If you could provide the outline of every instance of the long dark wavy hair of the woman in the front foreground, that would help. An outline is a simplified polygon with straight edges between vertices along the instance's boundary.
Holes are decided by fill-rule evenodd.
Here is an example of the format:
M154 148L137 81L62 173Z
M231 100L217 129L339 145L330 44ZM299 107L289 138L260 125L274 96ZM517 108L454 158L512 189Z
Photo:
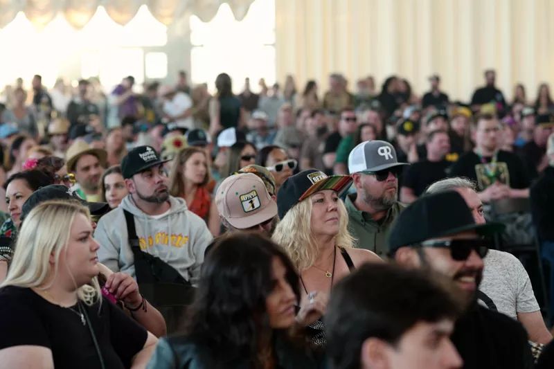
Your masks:
M184 333L213 352L208 359L217 361L217 368L233 368L245 357L251 368L262 368L260 338L273 332L266 298L274 289L274 258L283 262L300 301L296 269L283 250L260 233L231 233L208 247Z

